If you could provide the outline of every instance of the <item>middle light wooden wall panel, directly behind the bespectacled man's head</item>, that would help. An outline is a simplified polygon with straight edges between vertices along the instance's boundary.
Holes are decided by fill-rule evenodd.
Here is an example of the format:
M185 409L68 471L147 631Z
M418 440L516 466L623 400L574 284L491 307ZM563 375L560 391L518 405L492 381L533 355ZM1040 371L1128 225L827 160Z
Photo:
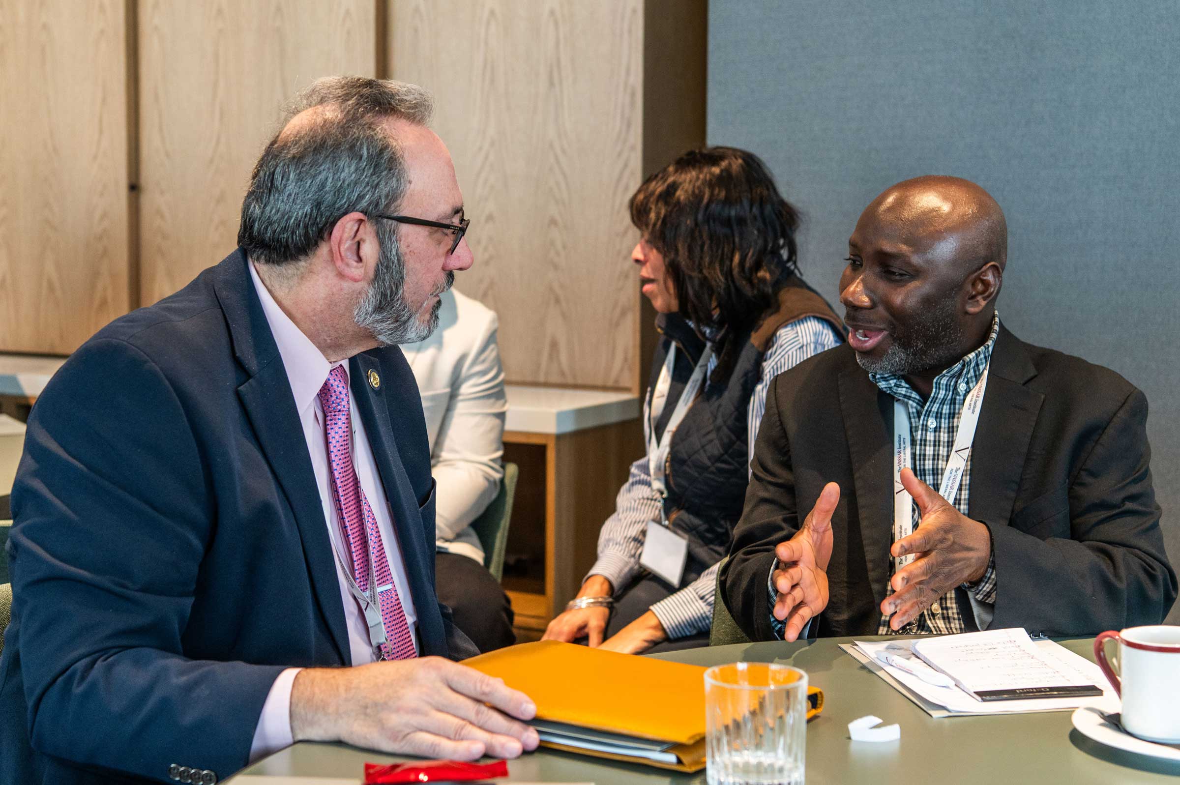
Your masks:
M378 21L373 0L139 0L143 305L234 250L282 105L319 77L376 76Z

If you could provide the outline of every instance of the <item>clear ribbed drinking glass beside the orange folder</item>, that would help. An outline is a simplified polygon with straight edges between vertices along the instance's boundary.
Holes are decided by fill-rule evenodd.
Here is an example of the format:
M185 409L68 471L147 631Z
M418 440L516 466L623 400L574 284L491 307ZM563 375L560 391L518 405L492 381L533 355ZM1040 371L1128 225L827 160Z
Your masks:
M807 674L775 662L704 672L709 785L802 785Z

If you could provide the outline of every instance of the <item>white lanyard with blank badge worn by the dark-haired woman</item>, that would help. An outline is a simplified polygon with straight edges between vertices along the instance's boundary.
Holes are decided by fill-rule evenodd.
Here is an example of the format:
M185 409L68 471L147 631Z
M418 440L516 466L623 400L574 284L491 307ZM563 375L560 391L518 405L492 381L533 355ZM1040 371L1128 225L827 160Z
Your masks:
M674 531L664 512L664 501L668 498L667 471L671 452L671 438L681 421L696 401L704 384L704 375L713 358L713 347L707 346L701 359L693 368L693 375L684 384L684 391L676 401L664 426L663 438L656 439L656 421L668 403L668 391L671 387L673 369L676 365L676 345L668 348L660 379L651 393L651 406L648 417L648 473L651 477L651 490L660 497L660 521L649 521L643 538L643 552L640 554L640 565L658 576L673 587L680 587L684 577L684 564L688 562L688 537Z

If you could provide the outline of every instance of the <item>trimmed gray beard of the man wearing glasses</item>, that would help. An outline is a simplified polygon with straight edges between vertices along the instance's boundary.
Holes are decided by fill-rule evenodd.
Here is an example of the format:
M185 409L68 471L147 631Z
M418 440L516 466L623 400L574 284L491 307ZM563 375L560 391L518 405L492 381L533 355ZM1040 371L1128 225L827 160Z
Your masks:
M439 326L439 309L442 301L437 300L430 316L419 319L418 312L406 302L405 283L406 266L398 251L396 240L381 243L381 255L378 259L373 283L361 296L353 312L353 319L359 327L373 334L379 346L417 344L425 341ZM388 250L387 250L388 249ZM432 294L440 295L454 283L454 273L447 272L442 286Z

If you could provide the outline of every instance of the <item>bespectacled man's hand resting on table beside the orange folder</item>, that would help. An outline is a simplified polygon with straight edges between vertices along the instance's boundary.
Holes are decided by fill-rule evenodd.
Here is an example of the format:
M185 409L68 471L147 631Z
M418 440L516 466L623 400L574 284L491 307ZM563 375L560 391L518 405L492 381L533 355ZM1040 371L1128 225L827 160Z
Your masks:
M476 760L536 750L537 706L502 679L441 658L304 668L291 685L295 741ZM517 718L517 719L512 719Z

